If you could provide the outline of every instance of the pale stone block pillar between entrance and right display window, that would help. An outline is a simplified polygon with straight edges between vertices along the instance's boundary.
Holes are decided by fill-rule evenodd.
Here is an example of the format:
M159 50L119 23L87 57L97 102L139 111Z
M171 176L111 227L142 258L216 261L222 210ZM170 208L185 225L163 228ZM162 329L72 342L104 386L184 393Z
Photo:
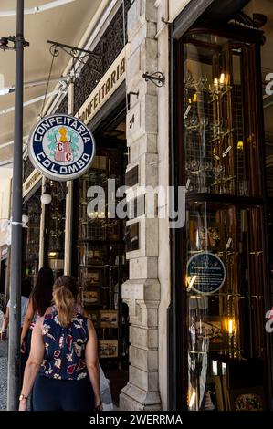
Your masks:
M158 68L156 35L157 9L154 0L135 0L128 12L127 94L131 94L127 113L127 144L130 163L127 171L138 166L138 183L131 189L146 194L145 213L131 219L139 222L139 249L127 253L130 278L122 285L122 299L130 314L130 375L120 396L121 410L160 410L158 381L158 218L149 213L151 198L146 186L158 185L158 99L157 88L145 82L142 74ZM143 187L143 188L141 188ZM140 191L141 190L141 191ZM128 194L128 199L129 197Z

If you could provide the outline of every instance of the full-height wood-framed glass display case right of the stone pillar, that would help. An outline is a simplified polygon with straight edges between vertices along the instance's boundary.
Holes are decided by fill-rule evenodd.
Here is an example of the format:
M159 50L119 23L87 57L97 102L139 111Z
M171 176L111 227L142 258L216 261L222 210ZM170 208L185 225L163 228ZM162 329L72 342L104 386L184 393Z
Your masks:
M190 410L230 410L235 363L250 368L266 350L260 334L267 285L262 152L252 92L257 77L245 73L255 70L256 48L227 33L196 28L181 44ZM257 365L257 383L263 371ZM237 387L247 387L241 383Z

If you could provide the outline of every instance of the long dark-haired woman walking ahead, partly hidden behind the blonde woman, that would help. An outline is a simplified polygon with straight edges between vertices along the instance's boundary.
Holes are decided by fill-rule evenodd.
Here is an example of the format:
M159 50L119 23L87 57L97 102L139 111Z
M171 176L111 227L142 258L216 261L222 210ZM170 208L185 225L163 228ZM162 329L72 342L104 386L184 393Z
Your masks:
M37 274L37 282L29 297L26 316L21 333L22 351L30 351L31 332L37 319L44 316L52 302L54 277L51 268L42 267ZM26 344L27 340L27 344Z

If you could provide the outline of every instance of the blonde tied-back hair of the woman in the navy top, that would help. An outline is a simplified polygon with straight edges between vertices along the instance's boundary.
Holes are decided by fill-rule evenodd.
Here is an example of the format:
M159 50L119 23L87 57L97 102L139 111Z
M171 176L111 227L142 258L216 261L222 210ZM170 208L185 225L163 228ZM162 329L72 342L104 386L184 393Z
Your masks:
M61 326L68 326L75 313L75 303L78 297L78 286L74 277L58 277L53 285L53 300L58 309L58 321Z

